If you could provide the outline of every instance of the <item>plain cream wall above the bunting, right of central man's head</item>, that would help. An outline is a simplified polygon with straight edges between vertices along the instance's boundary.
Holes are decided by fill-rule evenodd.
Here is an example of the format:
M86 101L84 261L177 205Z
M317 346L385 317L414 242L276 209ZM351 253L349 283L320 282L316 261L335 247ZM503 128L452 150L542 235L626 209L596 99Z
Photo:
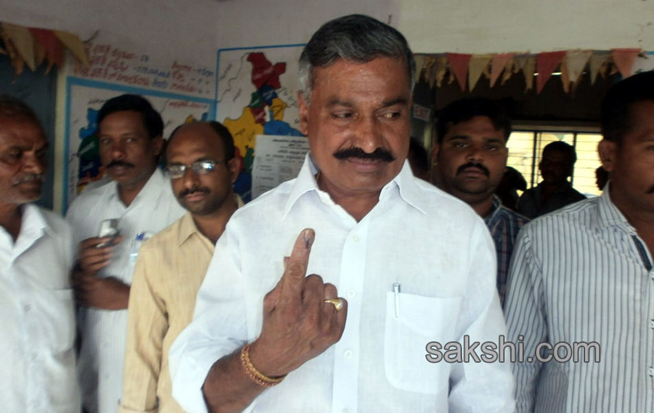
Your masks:
M399 0L414 52L654 50L654 0Z

